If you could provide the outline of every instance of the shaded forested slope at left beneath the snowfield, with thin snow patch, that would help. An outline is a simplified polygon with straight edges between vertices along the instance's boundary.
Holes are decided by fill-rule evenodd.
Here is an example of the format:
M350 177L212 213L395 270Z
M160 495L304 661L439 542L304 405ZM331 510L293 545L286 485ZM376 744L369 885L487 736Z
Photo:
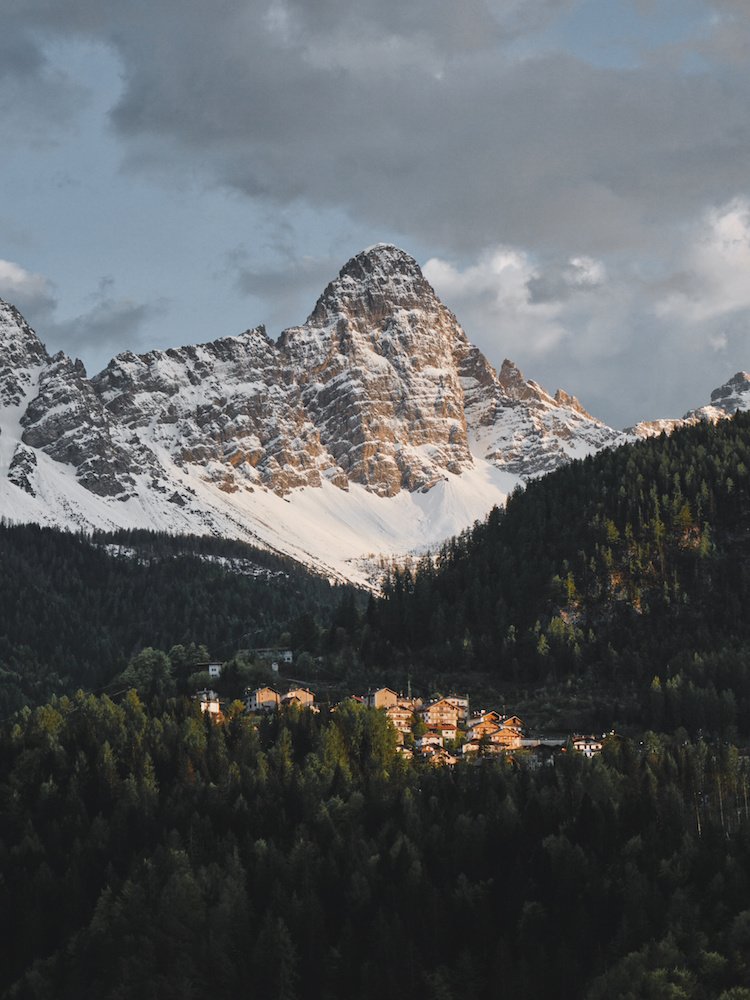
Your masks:
M202 645L227 660L296 622L327 622L348 592L240 542L146 531L0 523L0 566L0 718L96 690L144 647Z

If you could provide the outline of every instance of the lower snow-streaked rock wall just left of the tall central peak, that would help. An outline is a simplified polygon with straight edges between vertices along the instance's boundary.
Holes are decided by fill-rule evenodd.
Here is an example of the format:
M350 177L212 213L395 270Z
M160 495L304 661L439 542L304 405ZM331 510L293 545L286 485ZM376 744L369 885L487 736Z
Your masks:
M118 355L92 380L109 418L201 466L225 492L319 486L327 463L299 389L261 329L198 347Z

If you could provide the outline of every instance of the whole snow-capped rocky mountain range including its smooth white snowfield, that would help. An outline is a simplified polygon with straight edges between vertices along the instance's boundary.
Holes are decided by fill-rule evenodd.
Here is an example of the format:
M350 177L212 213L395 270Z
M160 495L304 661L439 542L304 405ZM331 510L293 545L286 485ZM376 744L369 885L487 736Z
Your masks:
M512 362L495 371L382 244L276 343L259 327L88 378L0 302L0 357L0 515L246 538L354 580L627 439Z

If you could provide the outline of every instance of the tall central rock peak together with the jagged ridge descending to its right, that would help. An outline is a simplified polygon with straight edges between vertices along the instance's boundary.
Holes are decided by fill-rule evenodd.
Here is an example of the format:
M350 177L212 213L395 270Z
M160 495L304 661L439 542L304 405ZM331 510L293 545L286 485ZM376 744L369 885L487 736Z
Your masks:
M279 346L337 478L386 496L429 489L475 455L528 477L620 438L511 362L495 372L396 247L350 260Z

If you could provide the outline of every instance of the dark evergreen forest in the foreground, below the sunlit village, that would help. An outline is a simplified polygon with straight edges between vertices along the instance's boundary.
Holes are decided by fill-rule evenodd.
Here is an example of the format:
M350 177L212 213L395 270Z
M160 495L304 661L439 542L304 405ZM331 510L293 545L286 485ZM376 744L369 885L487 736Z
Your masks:
M0 993L748 1000L735 751L450 770L394 737L353 702L25 710L0 728Z

